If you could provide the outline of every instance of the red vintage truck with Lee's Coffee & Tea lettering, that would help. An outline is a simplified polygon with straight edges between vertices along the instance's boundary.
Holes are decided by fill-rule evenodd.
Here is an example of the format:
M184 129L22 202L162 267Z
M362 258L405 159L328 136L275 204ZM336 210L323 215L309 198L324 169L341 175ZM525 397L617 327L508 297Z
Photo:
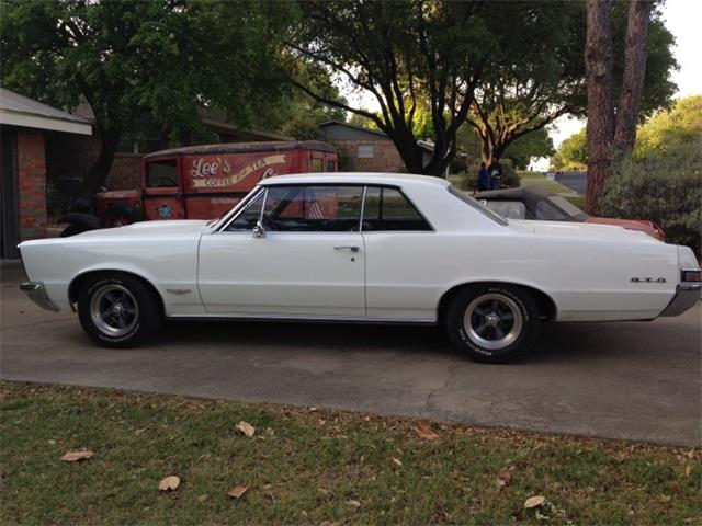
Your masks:
M213 219L259 181L273 175L338 171L336 149L315 140L188 146L144 158L141 188L100 192L95 216L69 214L61 236L141 220Z

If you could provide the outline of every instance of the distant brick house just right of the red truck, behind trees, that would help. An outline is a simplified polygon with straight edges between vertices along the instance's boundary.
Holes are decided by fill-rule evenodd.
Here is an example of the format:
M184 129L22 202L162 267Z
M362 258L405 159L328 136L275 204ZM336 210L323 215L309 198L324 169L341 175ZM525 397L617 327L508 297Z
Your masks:
M407 171L395 144L383 132L341 121L321 123L319 129L327 142L337 148L340 171ZM417 144L423 150L423 161L427 164L433 153L433 145L426 140L418 140Z

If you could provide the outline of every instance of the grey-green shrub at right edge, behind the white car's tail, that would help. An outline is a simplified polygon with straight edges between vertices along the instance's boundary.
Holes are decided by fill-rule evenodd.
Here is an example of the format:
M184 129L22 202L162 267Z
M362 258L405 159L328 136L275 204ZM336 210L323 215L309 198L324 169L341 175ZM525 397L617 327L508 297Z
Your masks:
M604 187L598 214L650 219L669 242L688 245L700 258L702 148L691 142L675 156L620 161Z

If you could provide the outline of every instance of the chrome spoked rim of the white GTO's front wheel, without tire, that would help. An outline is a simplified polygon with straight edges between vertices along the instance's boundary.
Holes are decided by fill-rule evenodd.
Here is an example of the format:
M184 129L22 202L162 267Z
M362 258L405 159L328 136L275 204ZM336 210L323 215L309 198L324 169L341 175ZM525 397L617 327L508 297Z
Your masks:
M90 318L110 336L128 334L137 324L139 306L128 288L111 283L101 286L90 300Z

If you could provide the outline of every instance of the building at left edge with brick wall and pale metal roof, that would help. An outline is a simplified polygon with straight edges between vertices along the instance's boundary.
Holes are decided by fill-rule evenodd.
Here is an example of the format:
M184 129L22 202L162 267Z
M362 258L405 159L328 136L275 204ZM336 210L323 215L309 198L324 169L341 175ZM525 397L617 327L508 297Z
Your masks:
M91 134L84 119L0 88L0 256L46 236L48 137Z

